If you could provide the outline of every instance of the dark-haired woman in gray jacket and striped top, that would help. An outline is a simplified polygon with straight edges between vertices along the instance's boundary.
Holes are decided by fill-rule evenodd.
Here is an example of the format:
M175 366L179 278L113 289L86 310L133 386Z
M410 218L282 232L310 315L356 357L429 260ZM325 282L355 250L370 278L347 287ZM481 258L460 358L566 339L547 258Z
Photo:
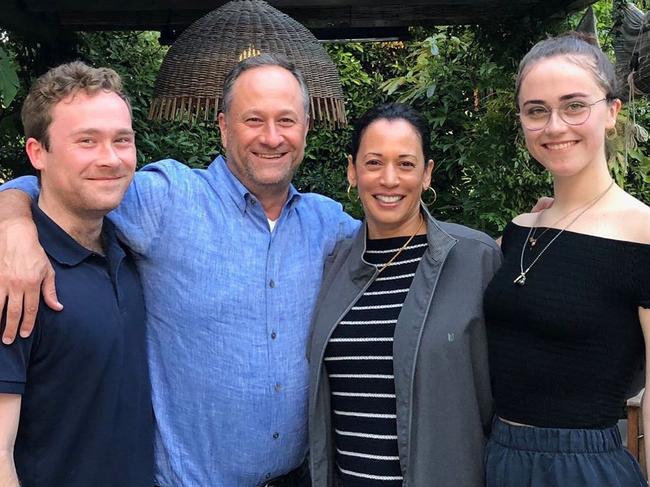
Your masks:
M365 225L327 264L310 343L313 485L483 484L490 421L486 235L421 205L429 132L402 104L359 120L348 180Z

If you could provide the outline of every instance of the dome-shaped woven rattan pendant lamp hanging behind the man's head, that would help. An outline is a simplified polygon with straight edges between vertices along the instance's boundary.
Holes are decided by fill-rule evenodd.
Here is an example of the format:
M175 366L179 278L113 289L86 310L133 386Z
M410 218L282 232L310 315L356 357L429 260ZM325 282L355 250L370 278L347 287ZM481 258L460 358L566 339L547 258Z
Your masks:
M216 122L222 85L242 59L286 55L305 77L312 123L346 125L336 66L303 25L262 0L233 0L190 25L163 60L149 118Z

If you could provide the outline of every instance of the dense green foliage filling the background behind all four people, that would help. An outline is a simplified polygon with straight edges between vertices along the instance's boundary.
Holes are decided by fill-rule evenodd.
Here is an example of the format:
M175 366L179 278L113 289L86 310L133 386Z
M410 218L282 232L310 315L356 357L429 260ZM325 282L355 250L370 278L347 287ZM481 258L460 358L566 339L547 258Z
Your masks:
M594 4L601 45L610 55L612 25L618 18L612 5L621 2ZM514 26L414 28L410 42L327 44L326 49L339 68L348 120L384 101L402 100L419 109L432 127L429 145L438 194L432 211L441 219L496 235L514 215L552 192L549 176L531 159L518 128L513 99L518 62L536 41L575 27L580 17L577 13L552 23L528 19ZM31 82L36 57L34 46L24 41L5 43L2 49L19 61L20 88L12 110L0 111L0 178L26 171L16 107L24 97L22 87ZM205 167L221 152L215 125L146 117L166 49L150 32L93 33L79 39L84 60L110 66L124 78L139 164L171 157ZM630 123L634 121L637 125ZM611 165L619 184L650 202L650 147L642 127L650 127L646 98L621 114L620 136L611 141ZM301 191L333 197L361 216L358 201L346 194L350 133L351 127L311 130L294 182Z

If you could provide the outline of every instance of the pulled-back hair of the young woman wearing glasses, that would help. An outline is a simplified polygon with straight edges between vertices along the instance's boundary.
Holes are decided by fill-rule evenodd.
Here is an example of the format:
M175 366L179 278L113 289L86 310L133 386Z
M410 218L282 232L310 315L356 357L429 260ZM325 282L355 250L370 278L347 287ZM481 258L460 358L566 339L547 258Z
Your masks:
M542 59L556 56L566 56L572 62L590 71L608 100L618 98L619 87L614 66L595 42L593 35L584 32L567 32L535 44L519 63L515 101L519 103L521 84L533 65Z

